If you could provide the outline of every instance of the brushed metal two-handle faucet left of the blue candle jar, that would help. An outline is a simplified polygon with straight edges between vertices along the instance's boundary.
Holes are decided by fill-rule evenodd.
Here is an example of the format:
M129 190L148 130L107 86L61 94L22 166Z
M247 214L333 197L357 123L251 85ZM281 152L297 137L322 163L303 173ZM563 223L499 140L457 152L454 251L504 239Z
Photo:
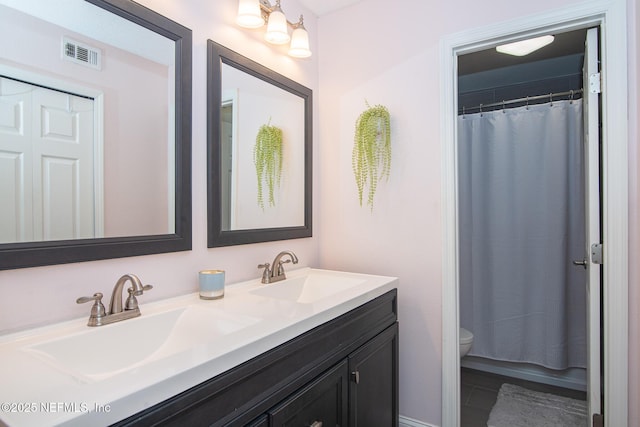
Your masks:
M124 304L124 310L122 307L122 292L124 285L127 282L131 282L131 287L127 289L129 297ZM111 294L111 301L109 302L109 312L107 313L104 305L102 304L102 293L96 292L91 297L81 297L76 300L76 303L83 304L85 302L94 301L91 307L91 315L89 316L88 326L102 326L109 323L119 322L125 319L131 319L133 317L140 316L140 308L138 307L138 300L136 296L140 296L144 291L152 289L151 285L143 285L138 276L135 274L125 274L120 277L113 287L113 293Z

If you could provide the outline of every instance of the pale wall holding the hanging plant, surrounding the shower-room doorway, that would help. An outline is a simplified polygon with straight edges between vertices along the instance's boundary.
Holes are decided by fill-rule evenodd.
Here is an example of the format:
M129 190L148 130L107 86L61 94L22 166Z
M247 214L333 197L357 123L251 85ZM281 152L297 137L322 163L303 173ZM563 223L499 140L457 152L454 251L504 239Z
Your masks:
M367 0L319 19L320 263L400 278L400 413L441 423L442 254L439 42L444 36L575 3ZM632 0L629 0L632 3ZM637 18L636 15L632 15ZM636 21L637 22L637 21ZM348 31L336 29L348 28ZM637 78L635 32L630 75ZM634 84L635 93L637 85ZM351 172L353 126L365 99L389 108L393 164L378 186L373 213L358 206ZM634 108L637 97L630 99ZM637 108L632 109L636 111ZM637 114L636 114L637 116ZM633 117L636 117L633 116ZM631 259L637 258L637 128L632 121ZM339 206L340 209L336 209ZM636 320L638 267L631 263L631 319ZM637 360L637 326L630 360ZM635 363L635 362L632 362ZM633 366L630 425L638 425L638 370Z

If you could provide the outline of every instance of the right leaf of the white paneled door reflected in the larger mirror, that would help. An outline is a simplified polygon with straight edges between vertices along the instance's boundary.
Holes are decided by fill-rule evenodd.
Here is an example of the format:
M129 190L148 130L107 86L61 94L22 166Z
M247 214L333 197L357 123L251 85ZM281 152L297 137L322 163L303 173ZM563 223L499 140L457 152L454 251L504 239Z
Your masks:
M95 237L93 100L43 88L32 97L33 174L42 185L34 187L37 235Z

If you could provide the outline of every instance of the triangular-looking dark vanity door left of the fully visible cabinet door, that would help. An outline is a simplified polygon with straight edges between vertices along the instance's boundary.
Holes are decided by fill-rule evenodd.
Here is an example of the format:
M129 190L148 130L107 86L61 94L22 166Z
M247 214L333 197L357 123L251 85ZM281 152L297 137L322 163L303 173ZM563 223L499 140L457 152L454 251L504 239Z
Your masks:
M348 369L343 361L271 411L271 427L347 427Z

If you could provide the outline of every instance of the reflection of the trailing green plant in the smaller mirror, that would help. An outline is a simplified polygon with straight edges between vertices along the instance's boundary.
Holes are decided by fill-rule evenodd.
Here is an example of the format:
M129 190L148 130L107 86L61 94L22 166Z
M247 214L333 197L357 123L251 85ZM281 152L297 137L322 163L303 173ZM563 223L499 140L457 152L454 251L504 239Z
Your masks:
M264 210L263 185L269 191L269 205L275 206L274 192L282 176L282 129L271 126L271 119L258 130L253 162L258 178L258 205Z

